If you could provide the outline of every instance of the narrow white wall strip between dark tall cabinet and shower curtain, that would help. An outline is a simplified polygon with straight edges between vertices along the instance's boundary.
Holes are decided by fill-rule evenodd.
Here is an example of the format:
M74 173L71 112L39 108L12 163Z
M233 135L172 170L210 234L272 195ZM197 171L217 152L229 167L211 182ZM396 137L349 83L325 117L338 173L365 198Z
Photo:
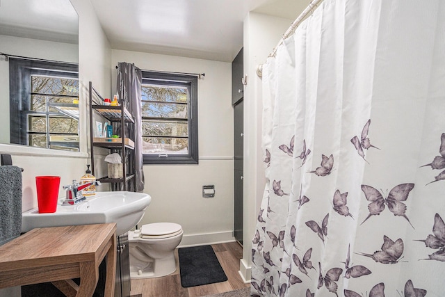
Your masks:
M265 183L261 151L261 79L256 69L266 62L292 21L259 13L249 13L244 20L244 73L248 75L248 85L244 88L244 230L240 271L245 280L250 280L252 239Z

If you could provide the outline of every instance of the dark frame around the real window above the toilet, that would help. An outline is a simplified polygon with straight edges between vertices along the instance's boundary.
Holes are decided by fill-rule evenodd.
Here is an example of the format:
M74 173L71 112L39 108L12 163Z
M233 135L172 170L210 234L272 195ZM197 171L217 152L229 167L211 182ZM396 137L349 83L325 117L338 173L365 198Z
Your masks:
M143 85L148 84L148 82L149 84L156 84L157 81L165 81L164 85L166 86L168 86L168 82L171 82L172 85L175 82L188 85L190 90L190 100L187 103L188 154L168 154L168 156L163 156L165 154L143 154L143 162L144 164L198 164L197 76L142 70ZM142 116L141 120L143 120Z

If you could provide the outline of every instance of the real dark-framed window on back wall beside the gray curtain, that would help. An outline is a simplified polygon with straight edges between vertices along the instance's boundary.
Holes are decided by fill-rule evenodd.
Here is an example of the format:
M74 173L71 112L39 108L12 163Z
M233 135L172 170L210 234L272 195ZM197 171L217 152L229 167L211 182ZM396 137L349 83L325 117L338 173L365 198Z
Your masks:
M197 164L197 77L143 71L145 164Z

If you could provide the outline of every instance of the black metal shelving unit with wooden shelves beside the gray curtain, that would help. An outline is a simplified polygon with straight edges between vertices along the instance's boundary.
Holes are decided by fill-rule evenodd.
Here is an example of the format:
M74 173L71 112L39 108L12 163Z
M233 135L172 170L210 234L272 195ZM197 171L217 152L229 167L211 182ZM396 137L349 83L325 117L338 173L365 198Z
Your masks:
M134 132L134 117L125 108L125 102L122 100L120 106L107 106L102 104L97 104L94 99L99 99L104 102L104 98L99 95L97 90L92 86L90 81L89 86L89 97L90 97L90 151L91 151L91 173L95 175L95 147L103 147L111 152L118 152L122 157L122 178L109 178L100 177L97 180L99 182L111 183L113 185L122 184L120 188L122 191L128 191L129 184L135 179L135 169L134 169L134 143L129 139L129 129L133 129ZM111 122L111 125L115 123L120 123L120 137L121 138L108 138L98 139L94 136L94 125L92 125L93 112L101 115L103 118ZM123 115L123 116L122 116ZM134 135L134 133L133 133ZM127 160L128 157L128 160ZM95 175L96 176L96 175ZM113 186L113 189L118 188L118 186Z

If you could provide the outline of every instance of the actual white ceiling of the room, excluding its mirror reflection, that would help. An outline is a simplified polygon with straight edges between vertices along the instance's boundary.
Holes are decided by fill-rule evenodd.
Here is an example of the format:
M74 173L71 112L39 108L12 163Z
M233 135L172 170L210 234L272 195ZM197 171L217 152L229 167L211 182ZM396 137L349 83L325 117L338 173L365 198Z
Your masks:
M284 17L289 19L290 26L309 3L308 0L90 1L113 49L224 62L231 62L243 47L243 21L250 11Z

